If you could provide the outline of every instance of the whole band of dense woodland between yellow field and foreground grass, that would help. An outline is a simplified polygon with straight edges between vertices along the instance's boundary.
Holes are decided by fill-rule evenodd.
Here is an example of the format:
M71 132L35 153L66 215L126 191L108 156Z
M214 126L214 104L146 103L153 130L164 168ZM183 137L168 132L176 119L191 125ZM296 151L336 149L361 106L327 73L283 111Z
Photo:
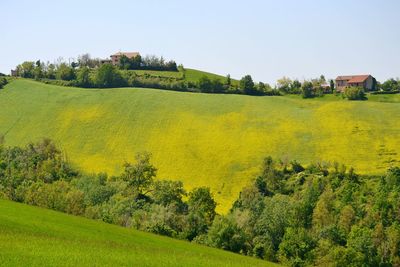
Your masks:
M358 175L265 158L226 215L206 187L156 179L138 154L119 176L74 170L49 140L0 148L3 198L186 239L289 266L400 264L400 168Z

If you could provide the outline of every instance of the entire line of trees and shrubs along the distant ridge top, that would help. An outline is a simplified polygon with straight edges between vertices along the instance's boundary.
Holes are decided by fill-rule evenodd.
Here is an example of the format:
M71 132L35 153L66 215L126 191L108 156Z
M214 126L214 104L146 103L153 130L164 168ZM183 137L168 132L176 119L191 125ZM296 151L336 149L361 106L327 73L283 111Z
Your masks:
M153 77L151 75L138 75L130 70L161 70L180 71L182 77ZM84 88L110 88L110 87L142 87L175 91L190 91L202 93L224 93L245 95L285 95L296 94L303 98L322 97L325 94L339 94L335 88L335 82L327 80L323 75L316 79L300 82L283 77L277 80L275 86L268 83L254 82L250 75L245 75L238 82L232 82L230 75L225 78L210 78L204 75L197 82L185 79L183 66L177 66L175 61L165 61L162 57L140 55L134 58L121 56L119 63L114 66L103 63L100 59L91 58L84 54L77 61L71 63L58 60L58 63L44 63L26 61L18 65L16 73L20 77L32 78L45 83L77 86ZM400 81L388 79L382 84L377 82L379 93L399 93ZM349 87L340 93L349 100L366 99L362 88Z

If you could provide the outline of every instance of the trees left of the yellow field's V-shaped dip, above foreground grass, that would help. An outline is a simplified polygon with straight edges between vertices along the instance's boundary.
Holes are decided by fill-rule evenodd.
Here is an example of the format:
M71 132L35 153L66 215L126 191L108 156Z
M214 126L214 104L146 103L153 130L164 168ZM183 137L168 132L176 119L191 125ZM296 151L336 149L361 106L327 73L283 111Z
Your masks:
M186 192L182 182L156 180L156 173L148 153L109 177L77 172L47 139L0 145L1 198L180 239L206 234L216 215L209 188Z

